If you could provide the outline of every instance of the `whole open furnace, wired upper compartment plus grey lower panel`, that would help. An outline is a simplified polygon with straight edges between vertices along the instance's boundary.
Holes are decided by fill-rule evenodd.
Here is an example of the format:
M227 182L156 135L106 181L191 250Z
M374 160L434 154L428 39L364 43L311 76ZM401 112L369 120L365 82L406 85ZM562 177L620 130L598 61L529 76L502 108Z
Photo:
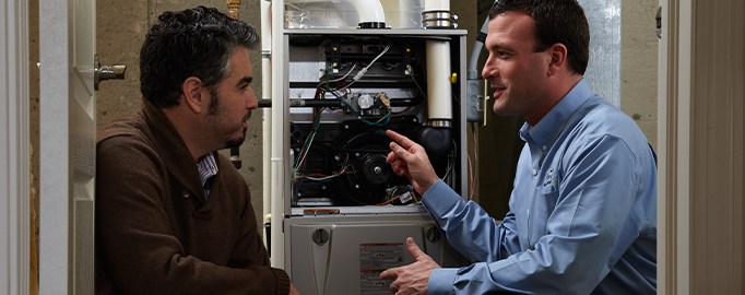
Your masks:
M433 40L449 46L447 58L427 56ZM285 30L284 44L284 269L293 284L303 294L388 294L378 276L414 262L407 237L440 266L462 267L409 180L386 164L386 130L425 146L437 174L465 196L465 31ZM437 62L451 72L433 82ZM430 83L451 94L433 104ZM430 107L452 117L431 118Z

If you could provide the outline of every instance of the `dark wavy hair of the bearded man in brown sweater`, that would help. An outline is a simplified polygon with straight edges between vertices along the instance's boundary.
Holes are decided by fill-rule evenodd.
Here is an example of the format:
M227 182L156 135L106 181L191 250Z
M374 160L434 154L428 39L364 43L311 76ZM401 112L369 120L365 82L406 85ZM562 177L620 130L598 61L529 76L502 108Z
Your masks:
M178 105L189 76L216 86L229 75L230 56L259 44L253 26L214 8L167 11L157 19L140 49L140 92L161 108Z

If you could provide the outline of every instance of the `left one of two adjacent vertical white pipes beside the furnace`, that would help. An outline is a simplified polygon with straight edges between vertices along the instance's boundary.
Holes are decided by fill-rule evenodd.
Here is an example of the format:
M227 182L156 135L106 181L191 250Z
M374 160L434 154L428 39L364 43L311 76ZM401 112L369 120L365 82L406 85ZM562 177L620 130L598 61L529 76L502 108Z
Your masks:
M261 1L261 97L264 99L271 99L272 98L272 59L269 56L265 56L264 52L269 51L271 52L272 49L272 22L271 22L271 5L272 3L269 1ZM263 114L263 120L261 121L261 134L262 134L262 148L263 148L263 156L261 160L263 161L263 221L264 223L271 222L271 213L272 213L272 187L271 187L271 173L272 173L272 167L271 167L271 161L269 160L271 152L272 152L272 127L271 127L271 120L272 120L272 109L271 108L262 108L261 109ZM269 221L267 220L268 215L270 215ZM265 232L264 232L265 233ZM267 247L267 235L262 233L264 237L264 247Z

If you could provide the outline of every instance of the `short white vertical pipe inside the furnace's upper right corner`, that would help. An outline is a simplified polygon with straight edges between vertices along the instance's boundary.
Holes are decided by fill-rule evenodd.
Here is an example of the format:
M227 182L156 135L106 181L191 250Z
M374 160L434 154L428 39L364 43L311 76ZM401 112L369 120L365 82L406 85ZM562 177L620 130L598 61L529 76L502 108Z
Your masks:
M429 119L452 119L450 43L427 40L427 105Z

